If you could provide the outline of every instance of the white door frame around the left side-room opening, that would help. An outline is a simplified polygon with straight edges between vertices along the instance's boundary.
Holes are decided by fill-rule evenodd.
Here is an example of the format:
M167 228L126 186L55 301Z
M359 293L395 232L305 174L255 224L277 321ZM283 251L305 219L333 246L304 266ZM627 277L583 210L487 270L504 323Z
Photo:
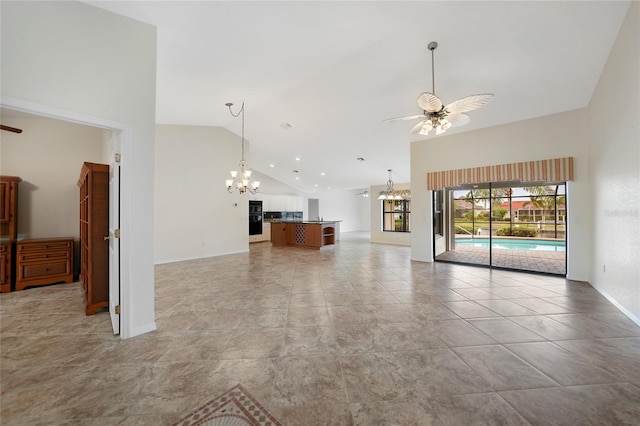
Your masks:
M133 129L130 125L107 120L100 117L95 117L87 114L81 114L74 111L68 111L61 108L52 107L49 105L42 105L35 102L29 102L22 99L12 98L9 96L2 96L0 98L0 107L11 109L14 111L33 114L45 118L51 118L54 120L67 121L70 123L81 124L89 127L97 127L104 130L110 130L120 134L120 149L121 158L120 163L120 230L123 237L120 239L120 337L129 338L132 336L131 326L131 268L132 265L128 261L130 258L130 240L126 237L130 235L131 229L131 217L130 212L133 201L133 194L131 190L131 167L126 167L127 159L132 158L133 155L133 143L132 134ZM112 200L109 200L111 204ZM111 294L111 285L117 280L109 279L109 293Z

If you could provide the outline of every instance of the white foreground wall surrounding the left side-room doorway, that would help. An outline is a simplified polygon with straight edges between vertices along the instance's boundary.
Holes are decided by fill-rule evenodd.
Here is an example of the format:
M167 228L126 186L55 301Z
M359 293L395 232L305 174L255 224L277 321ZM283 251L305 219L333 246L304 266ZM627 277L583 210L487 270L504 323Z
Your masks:
M156 28L79 2L1 2L2 105L122 128L121 334L155 329Z

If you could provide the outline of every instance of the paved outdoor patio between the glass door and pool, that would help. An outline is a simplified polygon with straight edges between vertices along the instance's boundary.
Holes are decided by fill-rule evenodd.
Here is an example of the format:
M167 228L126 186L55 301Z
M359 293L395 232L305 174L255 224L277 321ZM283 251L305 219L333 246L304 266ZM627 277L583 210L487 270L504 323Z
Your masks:
M436 256L436 260L489 266L489 249L458 246ZM566 275L566 252L495 249L491 261L496 268Z

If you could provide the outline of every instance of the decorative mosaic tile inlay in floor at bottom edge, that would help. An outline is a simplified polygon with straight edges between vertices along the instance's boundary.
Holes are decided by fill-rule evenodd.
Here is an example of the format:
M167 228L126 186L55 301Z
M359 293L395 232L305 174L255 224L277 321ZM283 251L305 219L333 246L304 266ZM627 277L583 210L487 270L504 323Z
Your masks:
M280 426L280 423L238 384L174 424L195 425Z

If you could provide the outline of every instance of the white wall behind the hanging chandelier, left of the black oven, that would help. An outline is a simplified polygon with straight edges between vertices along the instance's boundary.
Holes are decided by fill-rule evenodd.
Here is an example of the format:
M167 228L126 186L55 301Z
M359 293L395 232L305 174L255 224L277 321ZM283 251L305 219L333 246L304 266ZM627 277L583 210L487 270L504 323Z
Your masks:
M248 251L250 195L225 187L240 138L221 127L156 129L155 262Z

